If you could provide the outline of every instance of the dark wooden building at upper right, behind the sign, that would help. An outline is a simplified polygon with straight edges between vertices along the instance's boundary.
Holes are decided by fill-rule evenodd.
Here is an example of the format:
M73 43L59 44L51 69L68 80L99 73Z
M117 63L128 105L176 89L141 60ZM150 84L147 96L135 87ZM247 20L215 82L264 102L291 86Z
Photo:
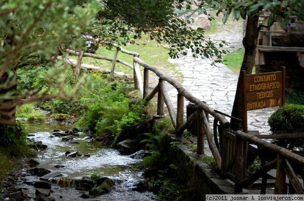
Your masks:
M260 16L260 24L267 26L268 15ZM304 21L291 16L282 27L281 22L259 31L256 73L279 71L286 67L287 92L304 91Z

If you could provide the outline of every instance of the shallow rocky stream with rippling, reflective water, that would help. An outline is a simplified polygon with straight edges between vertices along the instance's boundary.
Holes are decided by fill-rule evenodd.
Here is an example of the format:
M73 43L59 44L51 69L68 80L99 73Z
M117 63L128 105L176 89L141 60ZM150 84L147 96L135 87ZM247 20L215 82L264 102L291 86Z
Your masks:
M154 200L156 195L151 192L137 192L132 189L143 180L142 171L134 165L141 161L135 155L121 155L118 150L107 148L92 142L85 133L77 132L72 140L62 140L60 130L70 130L70 126L63 124L29 124L25 125L29 131L28 138L41 141L47 146L40 148L37 156L32 160L39 163L35 167L28 164L18 172L10 174L2 191L4 200L83 200L88 189L60 187L56 183L59 178L74 180L109 178L113 181L111 191L99 196L87 196L85 200ZM43 147L45 147L43 146ZM74 157L67 152L78 153ZM56 173L54 178L45 182L50 184L49 193L44 194L35 184L43 181L43 176L33 175L32 169L49 170ZM37 192L37 189L41 193ZM1 193L0 193L1 194ZM41 194L43 196L41 196Z

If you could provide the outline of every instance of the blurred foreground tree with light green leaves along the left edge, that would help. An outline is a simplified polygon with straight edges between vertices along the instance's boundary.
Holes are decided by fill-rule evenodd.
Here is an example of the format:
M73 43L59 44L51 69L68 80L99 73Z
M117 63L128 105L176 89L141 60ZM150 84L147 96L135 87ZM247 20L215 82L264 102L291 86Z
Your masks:
M77 6L70 0L4 0L0 5L0 129L7 132L18 131L15 121L16 106L50 99L68 98L64 90L63 69L60 62L52 58L58 55L57 47L76 45L75 37L89 25L97 13L98 3L89 1ZM58 87L56 94L49 90L40 91L38 83L30 88L17 89L17 70L29 65L45 67L43 83L48 89Z

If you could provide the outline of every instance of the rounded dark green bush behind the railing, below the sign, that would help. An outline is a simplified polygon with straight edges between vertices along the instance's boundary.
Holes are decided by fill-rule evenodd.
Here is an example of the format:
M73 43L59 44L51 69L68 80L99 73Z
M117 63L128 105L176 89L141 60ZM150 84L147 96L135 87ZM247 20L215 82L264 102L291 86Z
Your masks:
M303 132L304 106L285 105L272 114L268 123L272 134ZM304 148L304 138L274 139L273 143L289 150Z

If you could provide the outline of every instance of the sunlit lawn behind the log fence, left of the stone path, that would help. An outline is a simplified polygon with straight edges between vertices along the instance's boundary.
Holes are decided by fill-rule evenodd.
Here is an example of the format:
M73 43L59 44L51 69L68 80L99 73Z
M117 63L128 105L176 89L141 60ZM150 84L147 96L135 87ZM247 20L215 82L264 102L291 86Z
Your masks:
M146 62L147 64L153 65L157 69L170 69L174 71L174 74L180 76L175 70L175 66L171 64L168 59L168 49L160 46L154 40L148 40L147 36L143 35L141 39L136 40L136 44L128 44L123 46L124 49L128 51L136 52L140 54L140 59ZM96 55L107 56L110 58L114 57L116 48L112 48L110 50L106 49L103 46L100 46L95 52ZM77 60L77 57L73 56L72 59ZM123 60L130 65L133 65L133 56L127 55L124 53L118 54L118 59ZM84 57L83 63L100 66L103 69L110 70L112 67L112 63L105 60L97 60L94 58ZM117 63L115 67L115 71L122 71L126 74L133 74L133 70L123 64Z

